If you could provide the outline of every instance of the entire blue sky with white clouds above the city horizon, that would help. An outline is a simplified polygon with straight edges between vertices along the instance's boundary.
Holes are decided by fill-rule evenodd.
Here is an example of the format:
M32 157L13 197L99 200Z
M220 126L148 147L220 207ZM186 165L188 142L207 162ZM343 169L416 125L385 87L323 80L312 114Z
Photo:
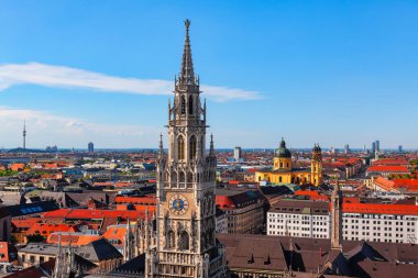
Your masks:
M382 0L3 0L0 146L156 147L186 18L218 147L417 147L418 2Z

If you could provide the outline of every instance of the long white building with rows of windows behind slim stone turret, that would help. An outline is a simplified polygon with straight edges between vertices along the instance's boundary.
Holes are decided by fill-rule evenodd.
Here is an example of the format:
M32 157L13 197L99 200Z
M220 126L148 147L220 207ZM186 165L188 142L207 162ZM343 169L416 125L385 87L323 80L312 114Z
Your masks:
M415 244L418 242L418 205L344 204L341 224L345 241ZM267 235L330 238L329 203L279 201L267 212Z

